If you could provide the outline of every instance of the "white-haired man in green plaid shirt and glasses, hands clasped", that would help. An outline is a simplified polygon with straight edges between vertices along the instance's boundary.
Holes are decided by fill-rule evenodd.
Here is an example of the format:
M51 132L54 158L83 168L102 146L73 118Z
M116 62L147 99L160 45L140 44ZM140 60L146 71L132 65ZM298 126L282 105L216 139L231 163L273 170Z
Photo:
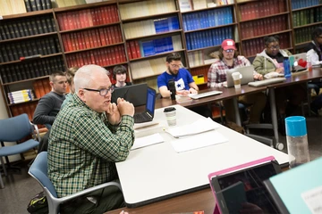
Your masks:
M115 162L126 160L134 142L134 106L121 98L111 103L114 86L107 70L84 65L74 84L49 136L48 177L58 197L115 181ZM66 202L60 212L103 213L123 206L122 192L108 186Z

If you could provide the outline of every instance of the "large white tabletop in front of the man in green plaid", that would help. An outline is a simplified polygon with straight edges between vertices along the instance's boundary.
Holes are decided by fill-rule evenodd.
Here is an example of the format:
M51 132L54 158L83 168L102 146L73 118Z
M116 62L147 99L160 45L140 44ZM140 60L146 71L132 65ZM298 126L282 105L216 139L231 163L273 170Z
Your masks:
M177 126L202 117L181 105L174 107L177 109ZM131 151L126 161L116 163L124 199L129 208L199 190L208 185L208 174L217 170L270 155L280 164L288 162L288 156L284 152L222 125L216 131L229 139L227 143L190 152L174 152L171 141L175 138L164 132L164 128L168 127L163 111L164 108L156 110L154 120L159 122L157 126L140 129L136 136L159 132L165 142Z

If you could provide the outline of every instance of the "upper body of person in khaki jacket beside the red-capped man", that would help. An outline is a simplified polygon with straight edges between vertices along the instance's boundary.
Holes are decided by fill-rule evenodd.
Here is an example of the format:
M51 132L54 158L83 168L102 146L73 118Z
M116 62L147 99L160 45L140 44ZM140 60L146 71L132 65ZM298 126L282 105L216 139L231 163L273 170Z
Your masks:
M264 37L265 49L258 53L253 61L253 66L258 73L265 75L269 72L283 73L284 57L292 55L288 50L282 50L279 46L279 37Z

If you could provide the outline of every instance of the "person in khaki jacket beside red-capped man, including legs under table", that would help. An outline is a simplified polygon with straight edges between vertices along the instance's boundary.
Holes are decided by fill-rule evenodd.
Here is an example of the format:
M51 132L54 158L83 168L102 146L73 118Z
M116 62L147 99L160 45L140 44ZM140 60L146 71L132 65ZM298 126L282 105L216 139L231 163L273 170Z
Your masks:
M284 57L292 55L288 50L280 49L279 37L264 37L265 49L256 55L253 61L254 69L266 75L270 72L284 73ZM284 118L299 113L299 105L306 95L306 86L292 85L275 89L276 106L279 113L279 130L285 135ZM289 101L288 103L285 103Z

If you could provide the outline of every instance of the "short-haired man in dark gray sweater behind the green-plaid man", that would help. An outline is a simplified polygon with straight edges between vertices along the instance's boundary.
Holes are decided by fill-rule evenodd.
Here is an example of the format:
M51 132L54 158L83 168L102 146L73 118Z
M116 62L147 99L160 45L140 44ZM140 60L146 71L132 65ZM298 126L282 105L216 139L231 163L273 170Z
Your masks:
M32 119L34 124L43 124L47 128L53 125L64 102L67 78L63 71L55 71L49 76L49 81L52 91L40 98Z

